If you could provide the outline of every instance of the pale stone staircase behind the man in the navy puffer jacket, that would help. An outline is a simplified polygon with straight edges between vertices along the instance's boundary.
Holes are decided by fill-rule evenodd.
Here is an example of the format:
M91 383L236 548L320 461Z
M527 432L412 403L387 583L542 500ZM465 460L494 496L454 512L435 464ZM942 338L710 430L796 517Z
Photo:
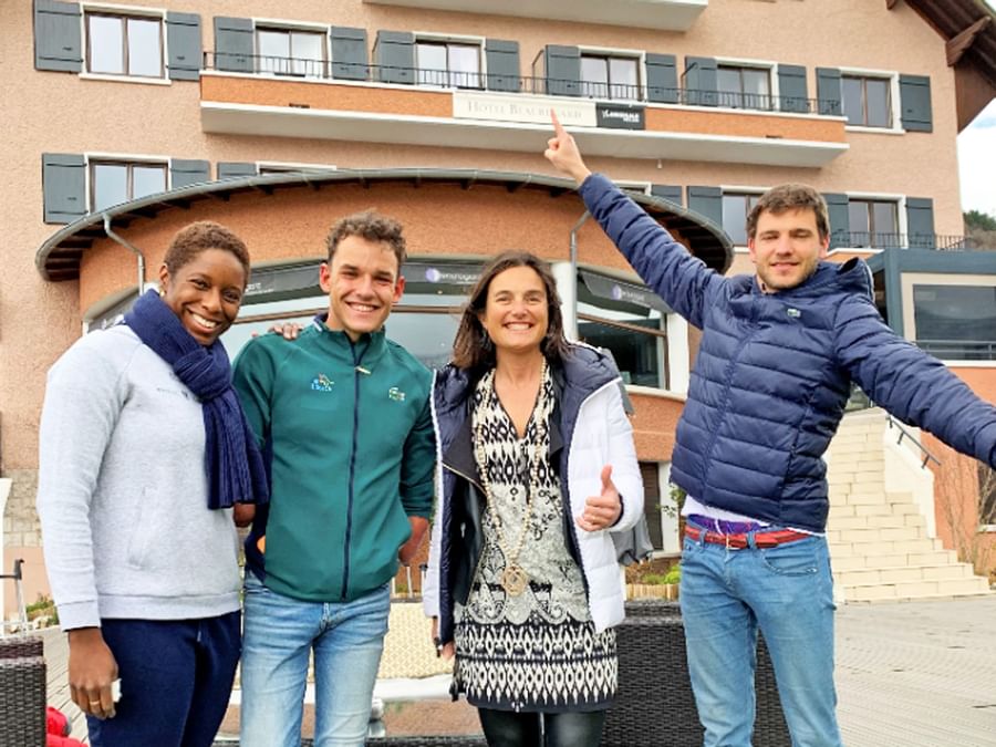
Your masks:
M837 600L989 593L987 580L934 537L933 518L924 515L933 511L932 499L922 509L914 498L933 495L933 478L921 471L919 455L895 440L885 413L874 408L847 415L830 444L827 539Z

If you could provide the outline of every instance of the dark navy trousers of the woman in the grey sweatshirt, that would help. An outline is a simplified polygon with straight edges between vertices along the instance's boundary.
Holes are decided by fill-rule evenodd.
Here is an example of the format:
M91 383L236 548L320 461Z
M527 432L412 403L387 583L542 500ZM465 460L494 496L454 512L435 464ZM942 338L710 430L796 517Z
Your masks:
M239 663L239 618L102 620L121 702L114 718L86 717L90 744L210 747Z

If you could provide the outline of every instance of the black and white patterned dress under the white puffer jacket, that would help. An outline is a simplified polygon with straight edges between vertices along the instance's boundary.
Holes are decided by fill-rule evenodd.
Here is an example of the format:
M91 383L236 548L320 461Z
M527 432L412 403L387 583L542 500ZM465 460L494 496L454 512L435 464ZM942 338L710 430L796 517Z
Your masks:
M615 694L615 632L596 633L588 610L581 569L564 542L560 478L550 465L549 418L554 391L544 369L526 435L519 438L495 394L490 371L474 395L474 419L484 442L495 501L511 552L532 500L528 533L517 563L529 583L523 593L502 589L506 557L489 509L483 517L484 549L467 605L455 609L456 666L454 689L478 707L559 713L608 708ZM542 458L537 490L529 496L536 442ZM477 449L475 449L477 453Z

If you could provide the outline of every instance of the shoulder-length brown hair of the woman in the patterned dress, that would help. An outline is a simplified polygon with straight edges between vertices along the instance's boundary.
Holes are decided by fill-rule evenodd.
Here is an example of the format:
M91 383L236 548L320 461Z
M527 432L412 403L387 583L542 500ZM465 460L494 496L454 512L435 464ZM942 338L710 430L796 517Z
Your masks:
M560 295L550 266L527 251L507 251L492 259L480 272L480 278L470 300L464 307L460 325L453 343L453 363L471 372L471 377L484 374L495 366L495 346L490 343L480 323L480 314L488 305L488 289L496 276L513 267L531 268L543 281L547 291L547 334L540 341L540 352L551 362L560 362L568 353L567 338L563 336L563 314L560 312Z

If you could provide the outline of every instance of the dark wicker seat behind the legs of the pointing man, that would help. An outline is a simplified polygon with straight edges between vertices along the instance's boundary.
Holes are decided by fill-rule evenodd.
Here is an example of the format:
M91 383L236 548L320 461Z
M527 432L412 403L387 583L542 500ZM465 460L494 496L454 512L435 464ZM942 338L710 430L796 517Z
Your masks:
M701 747L703 729L688 682L685 629L678 604L656 600L629 602L626 620L616 629L616 640L619 693L605 720L602 745ZM758 642L755 682L754 743L790 747L764 640Z

